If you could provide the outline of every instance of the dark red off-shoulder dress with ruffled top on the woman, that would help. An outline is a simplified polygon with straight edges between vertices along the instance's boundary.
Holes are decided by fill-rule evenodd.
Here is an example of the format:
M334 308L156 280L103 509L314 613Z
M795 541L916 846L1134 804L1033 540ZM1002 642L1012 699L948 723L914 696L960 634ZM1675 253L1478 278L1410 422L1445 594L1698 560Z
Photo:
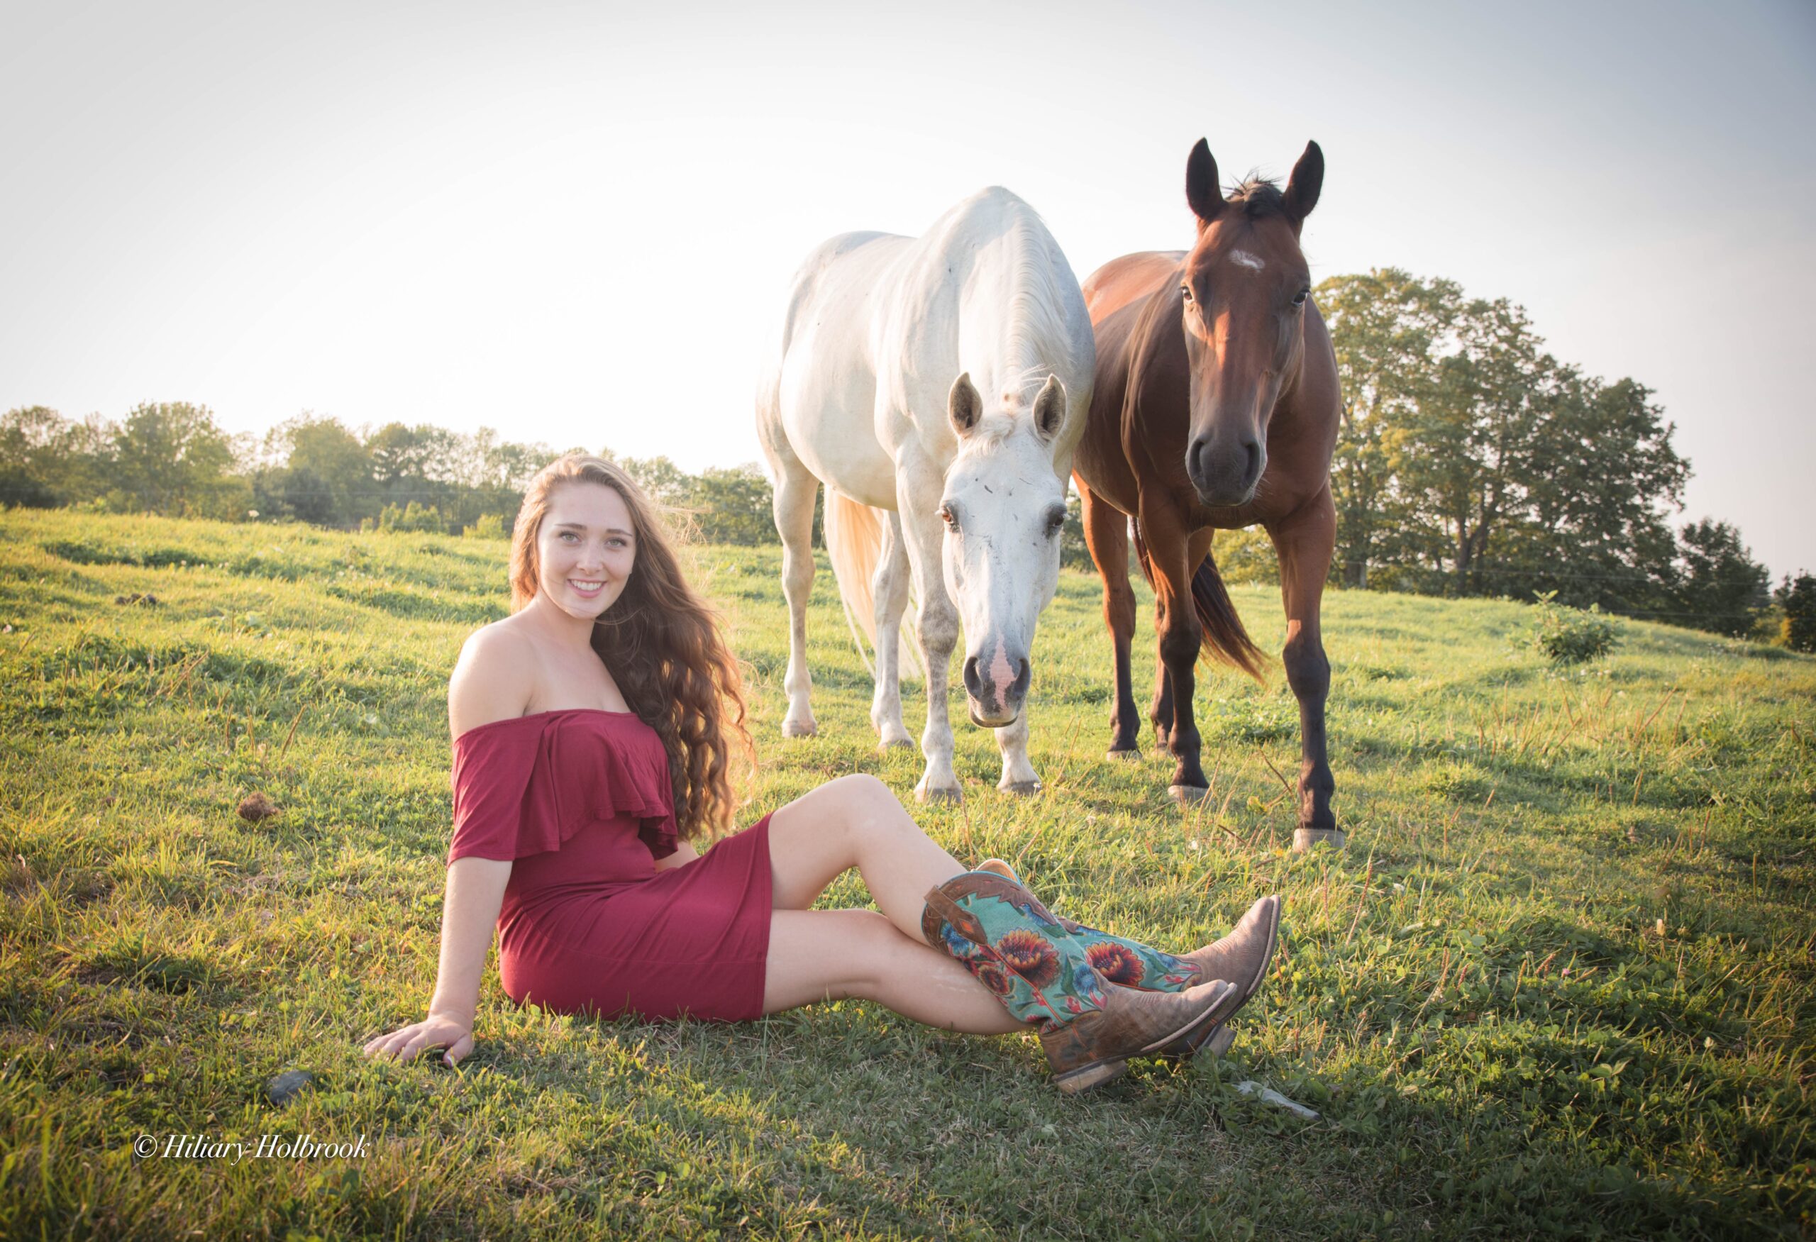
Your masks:
M561 1013L763 1015L770 819L697 861L676 852L661 739L630 712L570 708L454 739L454 844L512 861L498 962L516 1002Z

